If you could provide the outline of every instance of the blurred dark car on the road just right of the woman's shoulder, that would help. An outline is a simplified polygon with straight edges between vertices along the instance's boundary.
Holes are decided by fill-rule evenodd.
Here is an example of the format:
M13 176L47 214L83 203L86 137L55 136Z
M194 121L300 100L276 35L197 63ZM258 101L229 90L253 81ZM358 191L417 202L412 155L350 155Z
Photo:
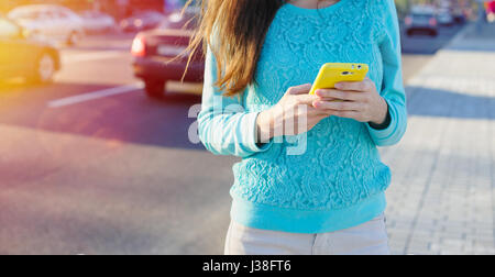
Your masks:
M404 20L407 35L416 33L428 33L431 36L438 35L438 21L431 11L414 11Z

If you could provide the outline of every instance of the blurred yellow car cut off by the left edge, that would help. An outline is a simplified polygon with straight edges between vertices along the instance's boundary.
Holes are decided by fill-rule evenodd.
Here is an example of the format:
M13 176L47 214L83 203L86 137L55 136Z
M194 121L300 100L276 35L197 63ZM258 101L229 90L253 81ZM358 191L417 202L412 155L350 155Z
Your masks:
M15 49L15 51L12 51ZM28 37L14 22L0 16L0 78L24 77L45 84L61 68L57 49L48 43Z

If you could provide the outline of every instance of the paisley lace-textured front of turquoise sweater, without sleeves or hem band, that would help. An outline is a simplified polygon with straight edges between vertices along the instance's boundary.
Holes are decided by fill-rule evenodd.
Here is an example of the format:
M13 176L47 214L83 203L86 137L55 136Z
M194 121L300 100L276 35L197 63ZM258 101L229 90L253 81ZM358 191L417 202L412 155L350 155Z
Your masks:
M293 86L312 82L324 63L366 63L383 86L381 42L389 34L387 1L342 0L321 11L285 4L266 36L255 85L243 97L248 111L271 107ZM233 167L234 198L297 210L338 210L383 192L391 171L381 162L365 123L331 117L307 133L306 151L288 155L294 142Z

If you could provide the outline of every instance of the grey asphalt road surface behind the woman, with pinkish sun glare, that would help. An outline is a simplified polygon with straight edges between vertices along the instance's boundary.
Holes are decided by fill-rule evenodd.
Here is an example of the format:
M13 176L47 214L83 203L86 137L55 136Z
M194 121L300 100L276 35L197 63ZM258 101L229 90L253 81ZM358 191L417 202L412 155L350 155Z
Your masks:
M455 31L405 38L405 78ZM88 37L53 85L0 85L0 254L222 253L237 159L188 140L200 86L145 97L130 44Z

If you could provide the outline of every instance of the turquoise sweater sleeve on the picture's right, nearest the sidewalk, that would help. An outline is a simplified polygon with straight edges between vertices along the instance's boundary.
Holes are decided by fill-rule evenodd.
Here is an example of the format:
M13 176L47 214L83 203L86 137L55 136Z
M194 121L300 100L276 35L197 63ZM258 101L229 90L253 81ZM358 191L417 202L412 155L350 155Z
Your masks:
M406 92L403 82L400 33L397 10L394 0L384 0L385 35L380 42L384 76L381 95L388 103L391 124L383 130L373 129L367 124L370 134L377 146L397 144L406 133L407 108Z

